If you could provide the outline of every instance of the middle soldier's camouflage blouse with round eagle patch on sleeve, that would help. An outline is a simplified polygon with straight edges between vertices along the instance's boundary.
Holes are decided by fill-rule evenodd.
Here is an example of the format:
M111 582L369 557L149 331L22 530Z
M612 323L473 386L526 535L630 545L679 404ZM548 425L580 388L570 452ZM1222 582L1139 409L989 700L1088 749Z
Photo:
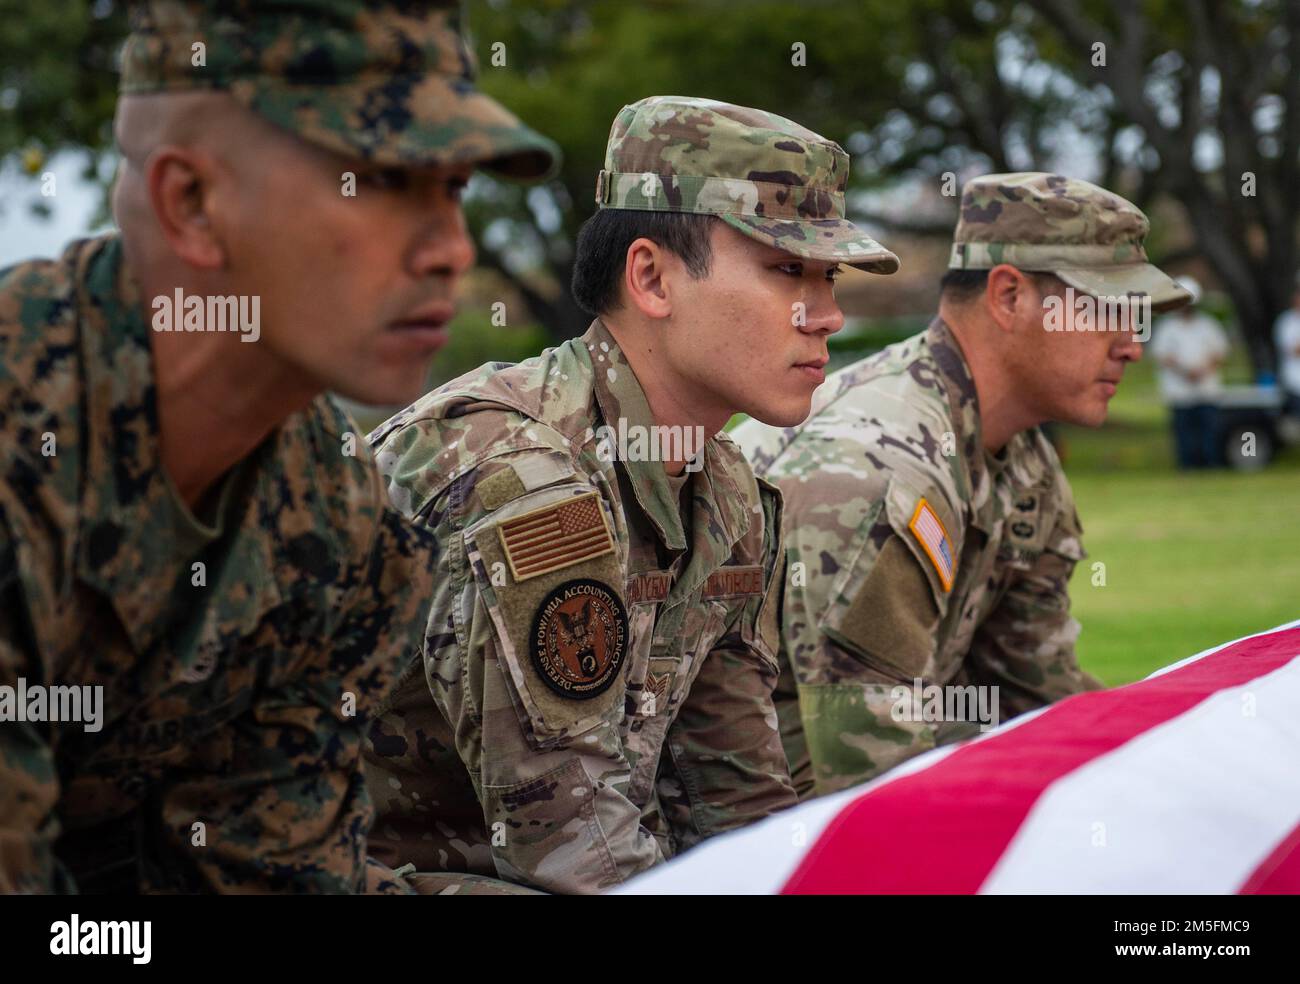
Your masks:
M597 321L372 435L441 545L424 672L367 763L390 864L594 892L796 802L772 706L779 495L719 435L684 523L662 461L602 452L620 419L654 422Z

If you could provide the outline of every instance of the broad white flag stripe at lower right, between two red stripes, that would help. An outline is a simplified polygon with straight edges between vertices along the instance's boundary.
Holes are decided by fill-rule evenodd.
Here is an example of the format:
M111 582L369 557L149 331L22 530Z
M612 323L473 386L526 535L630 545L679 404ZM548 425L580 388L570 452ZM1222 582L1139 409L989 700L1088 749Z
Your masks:
M980 892L1235 892L1300 823L1297 749L1300 656L1049 785Z

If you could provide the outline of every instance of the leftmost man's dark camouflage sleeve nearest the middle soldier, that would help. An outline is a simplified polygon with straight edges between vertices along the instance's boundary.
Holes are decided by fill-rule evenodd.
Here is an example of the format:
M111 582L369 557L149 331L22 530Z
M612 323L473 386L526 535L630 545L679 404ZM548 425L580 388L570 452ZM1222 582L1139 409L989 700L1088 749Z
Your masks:
M213 890L365 888L373 810L361 737L417 645L429 558L428 533L384 510L369 551L343 578L352 586L329 638L285 638L283 679L204 740L195 758L209 771L166 789L162 836L178 838Z

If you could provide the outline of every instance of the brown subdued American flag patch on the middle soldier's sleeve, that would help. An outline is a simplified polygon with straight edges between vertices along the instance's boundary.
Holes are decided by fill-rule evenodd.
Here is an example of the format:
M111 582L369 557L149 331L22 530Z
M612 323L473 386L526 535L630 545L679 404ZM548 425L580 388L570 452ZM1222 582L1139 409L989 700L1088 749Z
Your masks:
M497 533L516 581L614 551L599 493L594 491L508 519Z

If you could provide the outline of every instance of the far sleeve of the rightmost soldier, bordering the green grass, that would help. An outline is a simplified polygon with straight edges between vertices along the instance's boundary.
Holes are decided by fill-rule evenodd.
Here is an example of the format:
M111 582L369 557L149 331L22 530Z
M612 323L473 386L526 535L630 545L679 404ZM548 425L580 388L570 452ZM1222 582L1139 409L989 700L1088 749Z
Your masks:
M971 641L971 682L998 688L1002 720L1062 697L1098 690L1101 681L1079 668L1070 615L1070 576L1086 554L1083 530L1065 477L1058 478L1056 523L1034 563L1010 576L1006 591Z

